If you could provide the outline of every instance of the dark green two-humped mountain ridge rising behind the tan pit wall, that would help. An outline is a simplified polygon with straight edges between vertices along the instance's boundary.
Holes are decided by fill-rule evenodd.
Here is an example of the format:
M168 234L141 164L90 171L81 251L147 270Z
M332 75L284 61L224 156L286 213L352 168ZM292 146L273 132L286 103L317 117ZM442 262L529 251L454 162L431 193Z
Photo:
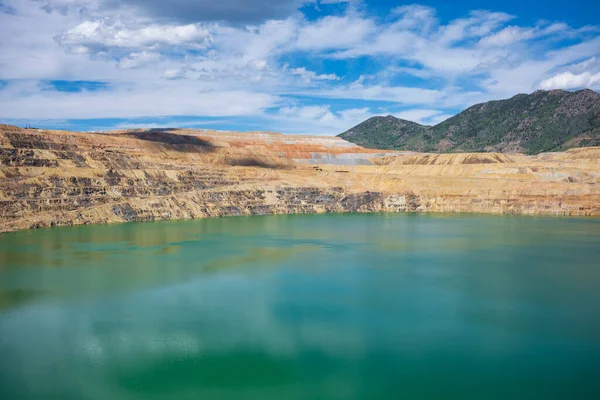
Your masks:
M600 94L538 90L469 107L435 126L373 117L338 135L363 147L537 154L600 146Z

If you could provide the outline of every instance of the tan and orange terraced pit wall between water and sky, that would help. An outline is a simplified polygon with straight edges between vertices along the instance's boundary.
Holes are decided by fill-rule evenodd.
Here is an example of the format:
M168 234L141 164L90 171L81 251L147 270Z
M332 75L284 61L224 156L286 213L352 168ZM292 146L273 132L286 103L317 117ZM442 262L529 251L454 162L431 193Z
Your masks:
M600 215L600 147L425 154L267 132L0 125L0 232L331 212Z

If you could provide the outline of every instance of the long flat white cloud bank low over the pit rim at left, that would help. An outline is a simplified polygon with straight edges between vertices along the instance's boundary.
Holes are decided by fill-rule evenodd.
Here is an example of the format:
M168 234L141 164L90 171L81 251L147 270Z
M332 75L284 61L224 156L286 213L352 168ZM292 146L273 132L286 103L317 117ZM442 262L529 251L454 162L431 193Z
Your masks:
M250 116L280 102L244 90L207 90L183 81L120 85L111 90L60 92L28 82L0 91L0 118L135 118L158 116ZM167 94L167 95L166 95Z

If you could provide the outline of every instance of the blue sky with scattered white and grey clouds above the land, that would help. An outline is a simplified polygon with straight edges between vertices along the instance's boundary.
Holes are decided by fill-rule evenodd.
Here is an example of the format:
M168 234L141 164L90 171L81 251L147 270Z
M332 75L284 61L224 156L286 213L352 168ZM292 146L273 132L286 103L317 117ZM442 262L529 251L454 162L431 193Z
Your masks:
M0 0L0 123L339 134L600 90L600 2Z

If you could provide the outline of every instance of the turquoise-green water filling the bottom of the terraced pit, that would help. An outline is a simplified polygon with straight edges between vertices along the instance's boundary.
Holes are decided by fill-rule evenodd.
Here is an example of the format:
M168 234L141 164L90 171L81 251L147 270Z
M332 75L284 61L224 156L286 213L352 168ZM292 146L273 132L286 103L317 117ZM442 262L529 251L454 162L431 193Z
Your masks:
M0 235L0 399L598 399L600 219Z

